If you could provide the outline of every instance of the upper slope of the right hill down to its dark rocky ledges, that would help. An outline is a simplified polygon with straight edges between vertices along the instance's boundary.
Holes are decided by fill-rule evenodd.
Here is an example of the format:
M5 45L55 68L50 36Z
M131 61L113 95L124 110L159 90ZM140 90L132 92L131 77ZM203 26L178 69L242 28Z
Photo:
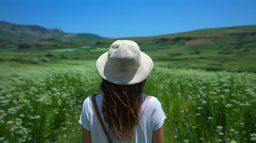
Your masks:
M136 41L143 50L158 50L171 48L208 47L221 44L243 44L255 42L255 26L224 27L218 29L203 29L191 32L175 33L150 37L117 38ZM101 43L110 44L117 39L104 39Z

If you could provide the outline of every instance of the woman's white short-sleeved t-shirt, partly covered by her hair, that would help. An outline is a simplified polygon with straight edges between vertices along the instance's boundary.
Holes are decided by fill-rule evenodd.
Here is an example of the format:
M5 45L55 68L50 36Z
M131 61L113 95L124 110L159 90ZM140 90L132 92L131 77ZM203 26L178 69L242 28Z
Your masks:
M161 103L158 101L158 98L151 97L147 103L146 100L147 95L143 94L143 104L141 105L140 109L140 116L144 110L143 115L141 116L140 122L138 123L137 127L134 130L134 138L129 140L127 138L125 142L152 142L152 134L153 130L158 130L164 125L164 120L166 119L165 113L162 110ZM84 100L84 104L82 107L82 113L79 120L79 123L87 129L91 131L91 141L92 142L108 142L107 136L105 135L103 129L100 126L100 122L98 121L97 115L94 111L92 105L92 97L88 97ZM101 119L103 120L104 126L109 133L109 126L104 121L103 114L101 113L101 104L102 104L103 96L98 94L95 97L98 111L100 112ZM139 117L140 117L139 116ZM109 134L110 139L112 142L124 142L124 140L119 141L115 138L115 135Z

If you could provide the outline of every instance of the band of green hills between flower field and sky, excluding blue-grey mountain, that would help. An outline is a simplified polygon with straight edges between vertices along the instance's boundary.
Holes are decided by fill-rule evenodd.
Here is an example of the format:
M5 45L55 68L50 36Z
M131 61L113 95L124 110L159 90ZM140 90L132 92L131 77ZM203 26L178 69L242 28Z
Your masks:
M205 70L229 68L256 72L255 25L115 39L72 33L33 40L0 39L0 51L5 57L42 57L50 53L54 55L52 60L97 59L117 39L137 42L141 51L152 57L155 66Z

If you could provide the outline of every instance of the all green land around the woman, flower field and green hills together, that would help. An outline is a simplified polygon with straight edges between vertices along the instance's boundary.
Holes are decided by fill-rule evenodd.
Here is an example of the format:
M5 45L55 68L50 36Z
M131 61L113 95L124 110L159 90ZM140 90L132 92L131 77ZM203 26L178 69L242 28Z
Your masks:
M125 39L153 59L144 94L162 103L165 142L256 142L256 26ZM0 142L81 142L95 61L114 41L0 39Z

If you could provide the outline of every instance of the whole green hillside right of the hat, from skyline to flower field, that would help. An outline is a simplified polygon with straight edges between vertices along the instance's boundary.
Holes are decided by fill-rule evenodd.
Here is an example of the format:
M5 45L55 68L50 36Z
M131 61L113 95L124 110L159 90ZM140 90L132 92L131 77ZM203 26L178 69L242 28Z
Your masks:
M121 39L137 42L159 66L256 71L255 25ZM116 40L103 39L91 45L104 48Z

